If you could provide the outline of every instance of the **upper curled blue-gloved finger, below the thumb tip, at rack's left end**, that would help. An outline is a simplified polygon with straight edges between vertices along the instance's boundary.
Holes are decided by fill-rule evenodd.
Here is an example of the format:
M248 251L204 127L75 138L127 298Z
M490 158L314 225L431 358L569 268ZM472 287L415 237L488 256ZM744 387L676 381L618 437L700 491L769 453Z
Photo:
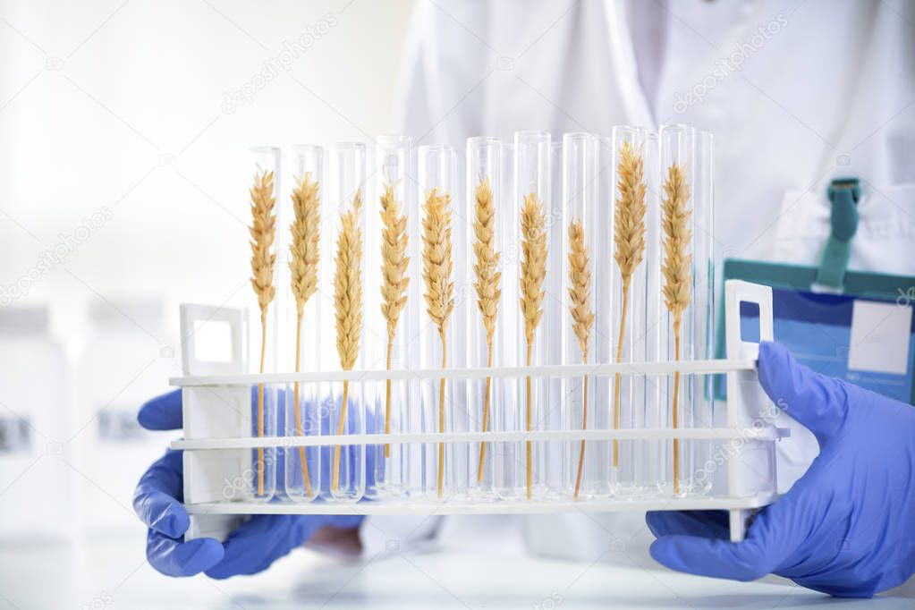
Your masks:
M178 538L189 524L181 498L181 452L168 451L140 477L134 492L134 510L146 527Z

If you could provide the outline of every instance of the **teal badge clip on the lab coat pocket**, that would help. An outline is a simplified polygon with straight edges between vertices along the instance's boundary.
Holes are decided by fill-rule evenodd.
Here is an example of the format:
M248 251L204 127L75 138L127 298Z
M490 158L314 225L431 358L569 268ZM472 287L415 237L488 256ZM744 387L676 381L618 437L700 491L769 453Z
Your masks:
M816 284L840 289L845 284L852 238L857 230L857 201L861 197L861 186L855 177L835 178L826 194L833 204L830 213L831 232L823 249L820 269L816 273Z

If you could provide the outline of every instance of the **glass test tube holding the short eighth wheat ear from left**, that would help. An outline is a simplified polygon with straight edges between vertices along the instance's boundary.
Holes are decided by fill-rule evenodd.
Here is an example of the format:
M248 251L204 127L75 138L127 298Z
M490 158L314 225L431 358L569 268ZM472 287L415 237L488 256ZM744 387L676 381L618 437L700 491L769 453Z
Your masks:
M606 234L598 217L598 140L594 134L563 135L562 295L566 364L597 361L595 282L608 258ZM589 375L565 380L567 430L607 428L607 401L597 401L596 378ZM565 494L575 499L608 493L608 443L576 440L565 444Z

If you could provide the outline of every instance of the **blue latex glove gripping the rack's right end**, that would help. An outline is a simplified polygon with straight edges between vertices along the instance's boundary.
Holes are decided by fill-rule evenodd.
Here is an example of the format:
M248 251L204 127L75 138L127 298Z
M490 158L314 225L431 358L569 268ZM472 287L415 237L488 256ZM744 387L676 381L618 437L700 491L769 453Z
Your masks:
M651 556L716 578L776 573L843 597L904 583L915 572L915 408L818 375L777 343L759 346L759 381L820 455L743 542L729 541L720 511L649 513Z

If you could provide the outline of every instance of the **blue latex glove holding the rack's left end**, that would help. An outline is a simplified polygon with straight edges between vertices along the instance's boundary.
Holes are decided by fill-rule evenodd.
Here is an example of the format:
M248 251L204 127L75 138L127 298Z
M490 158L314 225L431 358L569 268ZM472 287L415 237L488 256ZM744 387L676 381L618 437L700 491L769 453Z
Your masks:
M172 391L146 402L137 419L148 430L180 428L181 392ZM156 460L140 478L134 493L136 514L149 528L146 558L156 570L168 576L203 572L211 578L229 578L258 573L301 546L323 526L350 529L361 523L359 515L254 515L231 532L224 543L212 538L183 542L181 537L188 530L189 520L181 504L184 499L181 453L169 450ZM282 481L281 468L277 471L277 480Z

